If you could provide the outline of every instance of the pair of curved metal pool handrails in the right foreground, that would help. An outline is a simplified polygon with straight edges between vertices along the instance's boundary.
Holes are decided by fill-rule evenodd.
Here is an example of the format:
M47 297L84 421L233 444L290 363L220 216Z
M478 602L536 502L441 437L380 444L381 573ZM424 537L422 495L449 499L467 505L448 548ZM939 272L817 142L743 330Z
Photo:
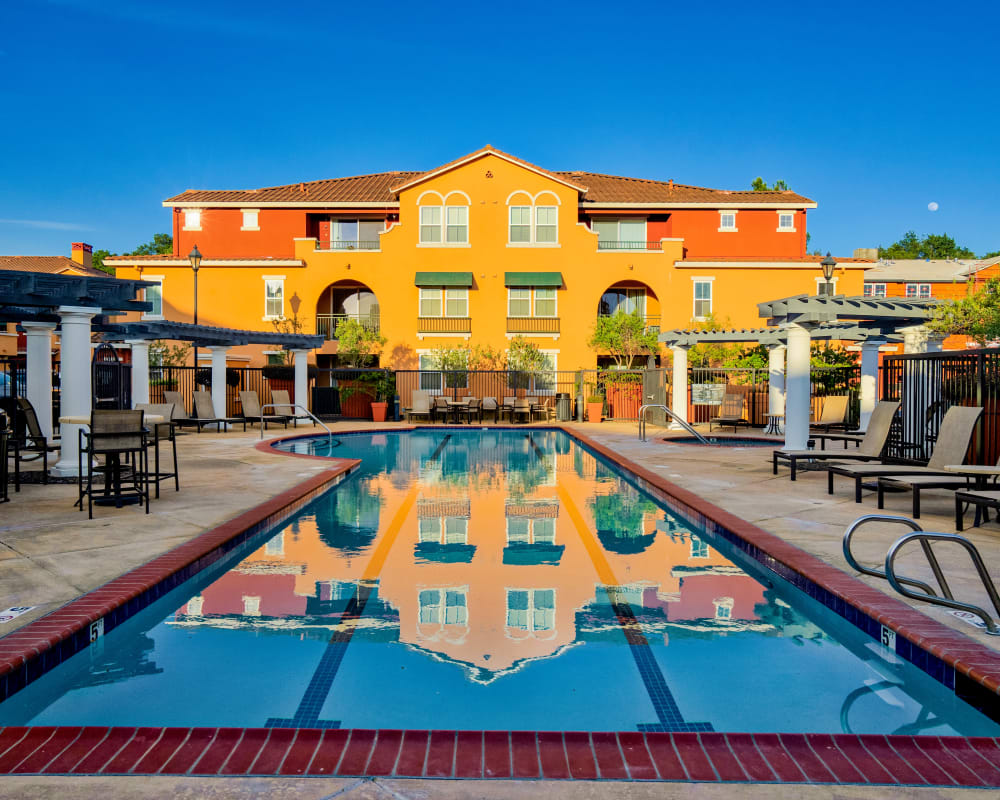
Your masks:
M910 528L911 531L893 542L892 546L889 548L889 552L886 553L885 556L885 571L862 566L854 557L854 553L851 552L851 541L854 534L870 522L889 522L896 525L903 525L904 527ZM938 588L941 592L940 597L937 592L935 592L923 581L919 581L915 578L907 578L896 573L896 557L910 542L920 543L920 547L924 551L924 555L927 557L927 563L930 565L931 571L934 573L934 578L938 583ZM897 517L890 514L867 514L854 520L854 522L852 522L844 532L844 558L847 559L847 563L853 569L856 569L864 575L870 575L873 578L885 578L885 580L889 581L889 585L903 595L903 597L908 597L911 600L921 600L925 603L931 603L932 605L944 606L945 608L953 608L957 611L966 611L970 614L974 614L986 625L987 633L993 636L1000 636L1000 628L997 627L996 622L986 611L981 609L979 606L974 606L971 603L963 603L955 599L955 596L952 594L951 587L948 586L948 581L944 577L944 571L941 569L941 564L938 563L937 556L934 555L934 550L931 547L932 542L951 542L965 548L969 557L972 559L972 564L975 566L976 572L979 573L979 579L983 582L986 594L989 595L990 601L993 603L993 610L997 614L997 617L1000 618L1000 595L997 594L997 588L993 584L989 573L986 571L986 565L983 563L983 558L979 554L979 550L977 550L976 546L964 536L959 536L955 533L933 533L925 531L920 527L920 525L909 517ZM906 588L908 586L919 591L912 591L911 589Z

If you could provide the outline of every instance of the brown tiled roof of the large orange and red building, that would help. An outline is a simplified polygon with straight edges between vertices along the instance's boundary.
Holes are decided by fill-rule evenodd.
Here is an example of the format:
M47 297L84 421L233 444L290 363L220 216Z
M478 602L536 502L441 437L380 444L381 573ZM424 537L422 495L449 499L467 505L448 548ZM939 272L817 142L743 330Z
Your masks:
M511 163L520 164L527 169L576 189L580 192L581 203L584 207L627 207L629 205L680 208L691 205L713 208L738 208L741 206L816 207L816 204L808 197L803 197L792 191L727 191L707 189L701 186L687 186L674 183L672 180L656 181L648 178L602 175L596 172L546 170L509 153L497 150L490 145L431 170L376 172L370 175L305 181L263 189L188 189L186 192L168 197L163 201L163 205L168 207L241 205L249 208L268 205L295 207L396 206L398 205L399 192L403 189L489 154Z

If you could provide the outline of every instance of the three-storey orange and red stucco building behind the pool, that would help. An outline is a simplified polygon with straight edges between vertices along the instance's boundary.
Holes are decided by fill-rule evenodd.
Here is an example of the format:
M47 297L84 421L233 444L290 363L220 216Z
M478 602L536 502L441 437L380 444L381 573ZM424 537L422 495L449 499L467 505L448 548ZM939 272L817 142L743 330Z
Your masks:
M197 245L199 322L269 330L295 316L326 336L320 366L336 365L337 323L355 318L387 338L382 366L425 368L436 348L524 336L555 369L593 367L600 314L755 327L757 302L815 294L820 280L806 197L553 172L490 146L426 172L188 190L164 205L172 256L106 260L120 278L161 283L150 316L191 320ZM865 266L841 261L837 292L860 294ZM263 348L242 352L264 361Z

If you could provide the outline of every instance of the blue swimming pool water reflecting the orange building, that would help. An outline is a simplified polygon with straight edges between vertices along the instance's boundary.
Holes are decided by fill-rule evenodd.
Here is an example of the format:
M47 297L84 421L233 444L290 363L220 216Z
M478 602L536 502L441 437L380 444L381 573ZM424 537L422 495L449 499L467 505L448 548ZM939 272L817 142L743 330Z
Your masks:
M335 444L352 476L0 724L1000 734L562 432Z

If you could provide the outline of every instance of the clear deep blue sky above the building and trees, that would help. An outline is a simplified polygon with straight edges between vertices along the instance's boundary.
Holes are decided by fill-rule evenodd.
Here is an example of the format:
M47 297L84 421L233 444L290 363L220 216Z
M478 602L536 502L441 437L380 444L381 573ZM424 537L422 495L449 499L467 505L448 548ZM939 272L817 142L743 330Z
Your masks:
M996 250L998 23L992 3L919 0L8 0L0 253L122 252L169 231L160 203L184 189L487 143L550 169L783 178L838 255L909 229Z

